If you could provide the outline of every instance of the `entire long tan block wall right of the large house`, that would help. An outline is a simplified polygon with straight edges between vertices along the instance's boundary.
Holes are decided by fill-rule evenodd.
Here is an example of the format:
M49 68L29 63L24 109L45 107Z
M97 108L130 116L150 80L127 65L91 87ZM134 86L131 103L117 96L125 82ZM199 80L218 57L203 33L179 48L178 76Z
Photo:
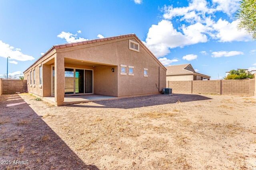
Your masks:
M173 93L254 96L256 81L255 79L167 81L166 87L172 88Z

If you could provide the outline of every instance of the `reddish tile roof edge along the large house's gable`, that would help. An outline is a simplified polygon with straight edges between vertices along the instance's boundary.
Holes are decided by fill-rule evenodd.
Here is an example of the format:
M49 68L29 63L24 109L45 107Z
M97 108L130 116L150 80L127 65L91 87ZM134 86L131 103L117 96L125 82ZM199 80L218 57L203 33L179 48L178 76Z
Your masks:
M154 56L154 54L148 49L148 47L146 47L146 45L144 45L144 43L142 43L142 41L140 41L140 39L134 34L126 34L126 35L119 35L119 36L114 36L114 37L106 37L106 38L100 38L100 39L91 39L91 40L87 40L87 41L81 41L81 42L74 42L74 43L66 43L66 44L60 44L60 45L54 45L52 46L52 48L50 48L46 53L44 53L44 55L42 55L41 57L39 57L39 59L37 59L31 66L28 67L28 69L30 67L32 67L34 64L36 64L38 61L40 61L41 59L43 59L44 57L46 57L49 53L51 53L52 51L54 51L54 49L62 49L62 48L66 48L66 47L73 47L73 46L78 46L78 45L85 45L85 44L90 44L90 43L97 43L97 42L101 42L101 41L110 41L113 39L120 39L120 38L124 38L124 37L136 37L136 39L138 39L138 43L140 43L141 45L143 45L146 50L148 50L148 52L158 61L158 63L164 68L166 69L166 67ZM26 69L24 72L26 72L28 69Z

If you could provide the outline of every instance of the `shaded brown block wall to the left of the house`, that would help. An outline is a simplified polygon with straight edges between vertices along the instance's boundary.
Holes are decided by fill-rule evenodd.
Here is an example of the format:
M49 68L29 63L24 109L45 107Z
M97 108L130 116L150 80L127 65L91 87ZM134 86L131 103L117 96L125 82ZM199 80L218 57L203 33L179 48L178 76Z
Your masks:
M15 94L16 92L23 93L27 91L25 90L26 86L27 86L26 80L2 79L2 94Z

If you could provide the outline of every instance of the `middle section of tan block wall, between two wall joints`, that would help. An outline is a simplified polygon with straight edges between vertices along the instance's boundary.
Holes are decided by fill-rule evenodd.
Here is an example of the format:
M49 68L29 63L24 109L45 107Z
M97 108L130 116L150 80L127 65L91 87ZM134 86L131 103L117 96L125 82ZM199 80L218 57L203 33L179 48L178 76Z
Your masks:
M193 94L221 94L221 80L193 81Z

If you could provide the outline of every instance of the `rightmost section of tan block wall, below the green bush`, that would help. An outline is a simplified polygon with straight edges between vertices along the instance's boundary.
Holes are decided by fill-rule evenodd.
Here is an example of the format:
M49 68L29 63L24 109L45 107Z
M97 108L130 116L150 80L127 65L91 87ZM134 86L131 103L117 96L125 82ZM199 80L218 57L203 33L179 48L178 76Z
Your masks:
M223 95L254 96L255 80L222 80Z

